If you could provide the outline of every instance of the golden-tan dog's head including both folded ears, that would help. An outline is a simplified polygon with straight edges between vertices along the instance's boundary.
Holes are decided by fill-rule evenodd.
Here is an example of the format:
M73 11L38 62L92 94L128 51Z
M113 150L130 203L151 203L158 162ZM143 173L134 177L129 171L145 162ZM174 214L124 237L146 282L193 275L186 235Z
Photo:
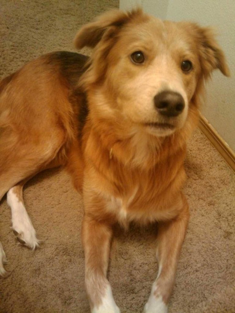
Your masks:
M213 69L229 75L210 28L161 21L141 9L103 14L78 32L75 45L94 48L82 83L105 95L107 115L156 136L185 125Z

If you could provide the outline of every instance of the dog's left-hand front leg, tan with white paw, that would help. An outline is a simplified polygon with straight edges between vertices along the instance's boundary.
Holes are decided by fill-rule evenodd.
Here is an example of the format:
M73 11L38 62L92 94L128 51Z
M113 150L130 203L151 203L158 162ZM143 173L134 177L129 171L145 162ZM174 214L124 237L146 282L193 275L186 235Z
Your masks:
M112 228L85 215L82 241L85 252L85 284L92 313L120 313L107 280Z

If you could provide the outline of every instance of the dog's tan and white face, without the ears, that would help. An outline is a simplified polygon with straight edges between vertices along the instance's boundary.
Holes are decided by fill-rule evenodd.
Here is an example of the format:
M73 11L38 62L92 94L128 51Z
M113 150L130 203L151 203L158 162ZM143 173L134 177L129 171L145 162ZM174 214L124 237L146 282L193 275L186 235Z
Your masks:
M123 115L146 131L169 135L184 125L200 64L182 28L149 19L119 33L107 77Z

